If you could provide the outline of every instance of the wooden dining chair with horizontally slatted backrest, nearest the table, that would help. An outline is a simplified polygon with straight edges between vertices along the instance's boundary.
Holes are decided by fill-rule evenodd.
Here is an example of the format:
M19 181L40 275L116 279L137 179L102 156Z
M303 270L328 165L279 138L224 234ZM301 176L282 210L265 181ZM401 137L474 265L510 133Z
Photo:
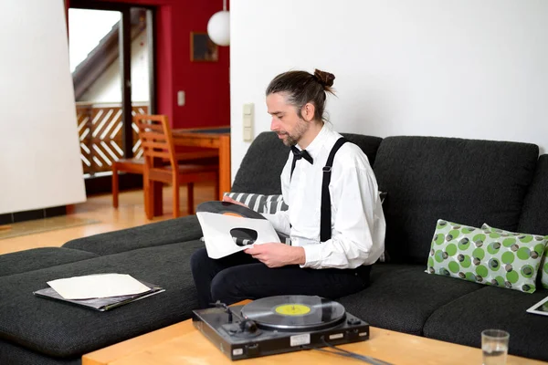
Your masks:
M173 186L174 218L179 216L179 186L186 184L187 211L194 214L194 183L215 181L215 198L219 195L218 160L216 164L179 164L175 153L172 131L164 115L136 115L133 122L139 128L144 156L144 209L148 219L153 218L152 183L171 183ZM159 160L168 160L161 165Z

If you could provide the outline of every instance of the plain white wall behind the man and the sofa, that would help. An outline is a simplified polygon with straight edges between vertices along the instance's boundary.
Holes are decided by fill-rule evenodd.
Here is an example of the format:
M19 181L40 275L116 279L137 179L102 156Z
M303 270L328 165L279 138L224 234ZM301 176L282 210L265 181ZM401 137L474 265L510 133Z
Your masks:
M336 130L527 141L548 151L548 1L232 0L233 177L269 130L264 90L289 69L332 72Z

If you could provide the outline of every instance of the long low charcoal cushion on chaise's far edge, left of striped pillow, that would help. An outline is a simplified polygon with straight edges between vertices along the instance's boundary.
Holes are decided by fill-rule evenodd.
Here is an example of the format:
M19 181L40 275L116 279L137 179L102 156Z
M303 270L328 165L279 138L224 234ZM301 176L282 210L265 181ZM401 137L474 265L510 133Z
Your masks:
M199 239L202 228L195 215L138 227L122 229L68 241L63 247L77 248L98 255L112 255L157 245L170 245Z

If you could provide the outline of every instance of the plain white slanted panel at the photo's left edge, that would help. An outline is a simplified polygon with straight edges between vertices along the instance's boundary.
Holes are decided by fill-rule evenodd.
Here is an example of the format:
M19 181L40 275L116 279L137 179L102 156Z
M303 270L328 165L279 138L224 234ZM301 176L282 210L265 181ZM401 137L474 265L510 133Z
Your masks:
M0 214L86 200L63 0L2 0Z

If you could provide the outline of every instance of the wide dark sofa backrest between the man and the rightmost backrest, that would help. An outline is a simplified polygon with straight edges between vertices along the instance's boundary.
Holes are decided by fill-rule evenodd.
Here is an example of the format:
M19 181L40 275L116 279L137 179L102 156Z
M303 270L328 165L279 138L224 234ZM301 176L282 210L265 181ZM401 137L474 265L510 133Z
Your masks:
M374 172L386 192L392 261L425 264L437 219L513 231L539 154L529 143L388 137Z

